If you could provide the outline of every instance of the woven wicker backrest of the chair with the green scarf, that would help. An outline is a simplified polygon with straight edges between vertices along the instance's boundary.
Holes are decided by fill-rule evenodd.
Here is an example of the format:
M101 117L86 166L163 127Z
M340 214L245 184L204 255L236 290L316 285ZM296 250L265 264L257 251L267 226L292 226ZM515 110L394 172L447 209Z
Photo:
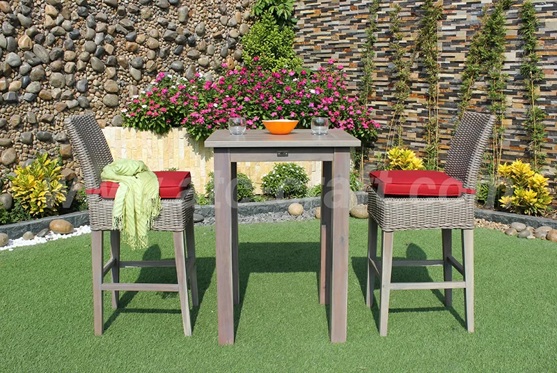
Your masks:
M68 137L79 160L87 189L100 187L100 173L112 161L109 144L93 114L70 116L65 120Z

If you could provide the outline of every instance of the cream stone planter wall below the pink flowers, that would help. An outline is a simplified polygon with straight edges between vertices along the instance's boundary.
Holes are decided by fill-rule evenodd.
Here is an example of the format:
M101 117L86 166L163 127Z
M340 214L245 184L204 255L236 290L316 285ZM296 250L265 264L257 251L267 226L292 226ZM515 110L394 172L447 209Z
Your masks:
M102 130L114 158L139 159L153 170L177 168L195 170L191 180L196 190L205 190L209 173L213 171L213 151L189 138L185 128L173 128L166 135L137 131L134 128L106 127ZM304 167L310 177L308 186L321 183L321 162L295 162ZM268 174L273 162L240 162L238 172L251 178L260 193L261 178Z

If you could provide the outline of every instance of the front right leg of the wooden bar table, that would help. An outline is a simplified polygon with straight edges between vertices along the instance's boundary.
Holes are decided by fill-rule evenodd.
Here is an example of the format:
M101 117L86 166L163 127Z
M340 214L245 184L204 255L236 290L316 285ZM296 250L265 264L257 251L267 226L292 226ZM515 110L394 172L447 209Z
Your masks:
M331 342L346 342L348 304L348 214L350 149L335 148L333 180L333 266Z

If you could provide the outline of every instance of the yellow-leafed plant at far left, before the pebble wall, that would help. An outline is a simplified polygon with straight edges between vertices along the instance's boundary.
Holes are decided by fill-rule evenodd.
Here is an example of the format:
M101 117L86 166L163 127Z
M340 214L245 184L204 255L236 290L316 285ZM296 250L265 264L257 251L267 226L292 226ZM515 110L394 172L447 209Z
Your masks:
M48 159L47 153L38 155L27 167L17 167L15 176L10 177L13 198L34 217L56 214L66 197L61 170L57 161Z

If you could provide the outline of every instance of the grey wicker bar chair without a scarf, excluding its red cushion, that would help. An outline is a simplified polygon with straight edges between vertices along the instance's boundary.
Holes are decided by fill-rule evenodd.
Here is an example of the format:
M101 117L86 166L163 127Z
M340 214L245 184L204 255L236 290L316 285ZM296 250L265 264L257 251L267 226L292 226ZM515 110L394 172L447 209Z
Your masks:
M396 289L445 289L445 305L453 302L452 289L464 289L466 328L474 330L473 314L473 192L487 141L492 132L494 116L467 112L451 142L445 173L462 182L459 197L393 197L369 188L368 211L368 283L366 303L372 306L375 274L380 277L379 334L386 336L389 317L389 296ZM377 259L377 226L382 229L382 254ZM442 229L443 259L393 261L393 232L409 229ZM460 264L452 255L451 229L462 231ZM392 266L443 266L444 282L391 282ZM453 281L456 268L464 277Z

